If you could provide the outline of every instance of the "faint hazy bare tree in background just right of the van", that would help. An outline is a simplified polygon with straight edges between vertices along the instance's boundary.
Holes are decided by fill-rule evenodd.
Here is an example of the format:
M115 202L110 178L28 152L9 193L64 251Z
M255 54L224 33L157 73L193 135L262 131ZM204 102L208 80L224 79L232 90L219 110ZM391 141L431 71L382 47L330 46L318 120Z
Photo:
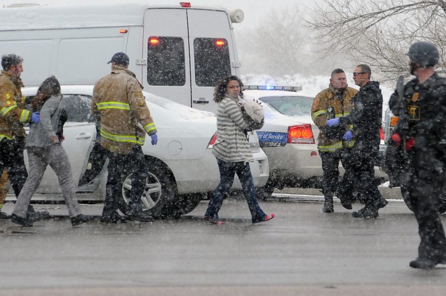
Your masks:
M310 34L298 5L273 9L244 33L236 31L243 72L273 76L331 73L344 62L333 59L321 65L307 42ZM335 65L335 66L334 66ZM332 68L333 67L333 68ZM329 69L328 69L329 68Z

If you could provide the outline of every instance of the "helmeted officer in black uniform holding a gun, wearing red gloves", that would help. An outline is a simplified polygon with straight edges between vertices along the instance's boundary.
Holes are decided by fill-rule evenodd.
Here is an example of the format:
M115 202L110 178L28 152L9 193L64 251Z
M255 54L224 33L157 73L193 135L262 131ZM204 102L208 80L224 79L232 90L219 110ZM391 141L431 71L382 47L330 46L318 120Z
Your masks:
M439 60L434 44L415 42L407 55L410 73L416 78L404 86L409 120L407 134L399 144L404 143L407 150L408 171L403 183L421 238L418 258L409 265L433 268L446 263L446 237L439 214L446 177L446 78L434 71ZM390 97L389 106L393 114L401 115L397 91Z

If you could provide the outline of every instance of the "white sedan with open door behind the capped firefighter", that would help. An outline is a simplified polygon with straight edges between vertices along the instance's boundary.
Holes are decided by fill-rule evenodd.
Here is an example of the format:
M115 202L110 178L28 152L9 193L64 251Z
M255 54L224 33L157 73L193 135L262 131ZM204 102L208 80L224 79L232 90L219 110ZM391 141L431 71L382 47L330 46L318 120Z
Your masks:
M28 100L36 92L37 87L22 89ZM105 197L107 162L106 159L101 162L100 158L94 160L89 157L96 137L90 110L93 86L66 85L61 87L61 92L68 113L62 145L68 154L75 182L79 182L77 198L101 202ZM159 140L152 146L148 137L143 146L149 176L142 201L154 216L178 216L195 209L220 182L217 161L212 154L217 119L213 113L192 109L147 92L144 96ZM250 163L254 185L261 187L269 176L268 158L259 147L256 136L250 137L249 142L255 160ZM28 165L26 151L25 164ZM86 175L89 175L87 180ZM122 178L120 210L125 212L131 182L128 174ZM232 189L241 189L237 177ZM52 169L46 170L33 200L61 200L60 187Z

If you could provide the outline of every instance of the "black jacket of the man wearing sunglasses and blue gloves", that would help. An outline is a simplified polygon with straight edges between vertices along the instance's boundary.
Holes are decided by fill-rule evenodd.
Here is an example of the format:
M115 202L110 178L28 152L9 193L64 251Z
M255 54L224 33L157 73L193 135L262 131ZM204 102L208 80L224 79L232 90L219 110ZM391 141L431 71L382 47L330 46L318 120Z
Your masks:
M370 81L359 88L351 99L350 114L339 118L341 125L353 125L356 141L373 142L379 146L383 114L383 95L380 83Z

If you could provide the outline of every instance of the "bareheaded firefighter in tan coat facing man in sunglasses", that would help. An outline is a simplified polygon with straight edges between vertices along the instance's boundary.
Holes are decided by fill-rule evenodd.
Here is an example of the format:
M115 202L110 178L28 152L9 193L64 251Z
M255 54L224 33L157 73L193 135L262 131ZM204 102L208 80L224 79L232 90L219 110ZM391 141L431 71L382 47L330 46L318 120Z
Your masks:
M318 150L322 160L322 170L324 179L322 181L322 192L325 203L323 212L331 213L333 208L333 194L336 191L339 178L339 161L343 149L342 140L349 140L349 147L353 145L350 133L346 133L349 126L328 127L327 121L348 115L352 108L350 99L358 91L347 86L347 78L342 69L335 69L332 72L330 85L319 92L313 101L311 108L311 118L315 125L319 127ZM344 142L344 144L347 142ZM346 209L351 209L351 202L348 198L342 198L341 204Z

